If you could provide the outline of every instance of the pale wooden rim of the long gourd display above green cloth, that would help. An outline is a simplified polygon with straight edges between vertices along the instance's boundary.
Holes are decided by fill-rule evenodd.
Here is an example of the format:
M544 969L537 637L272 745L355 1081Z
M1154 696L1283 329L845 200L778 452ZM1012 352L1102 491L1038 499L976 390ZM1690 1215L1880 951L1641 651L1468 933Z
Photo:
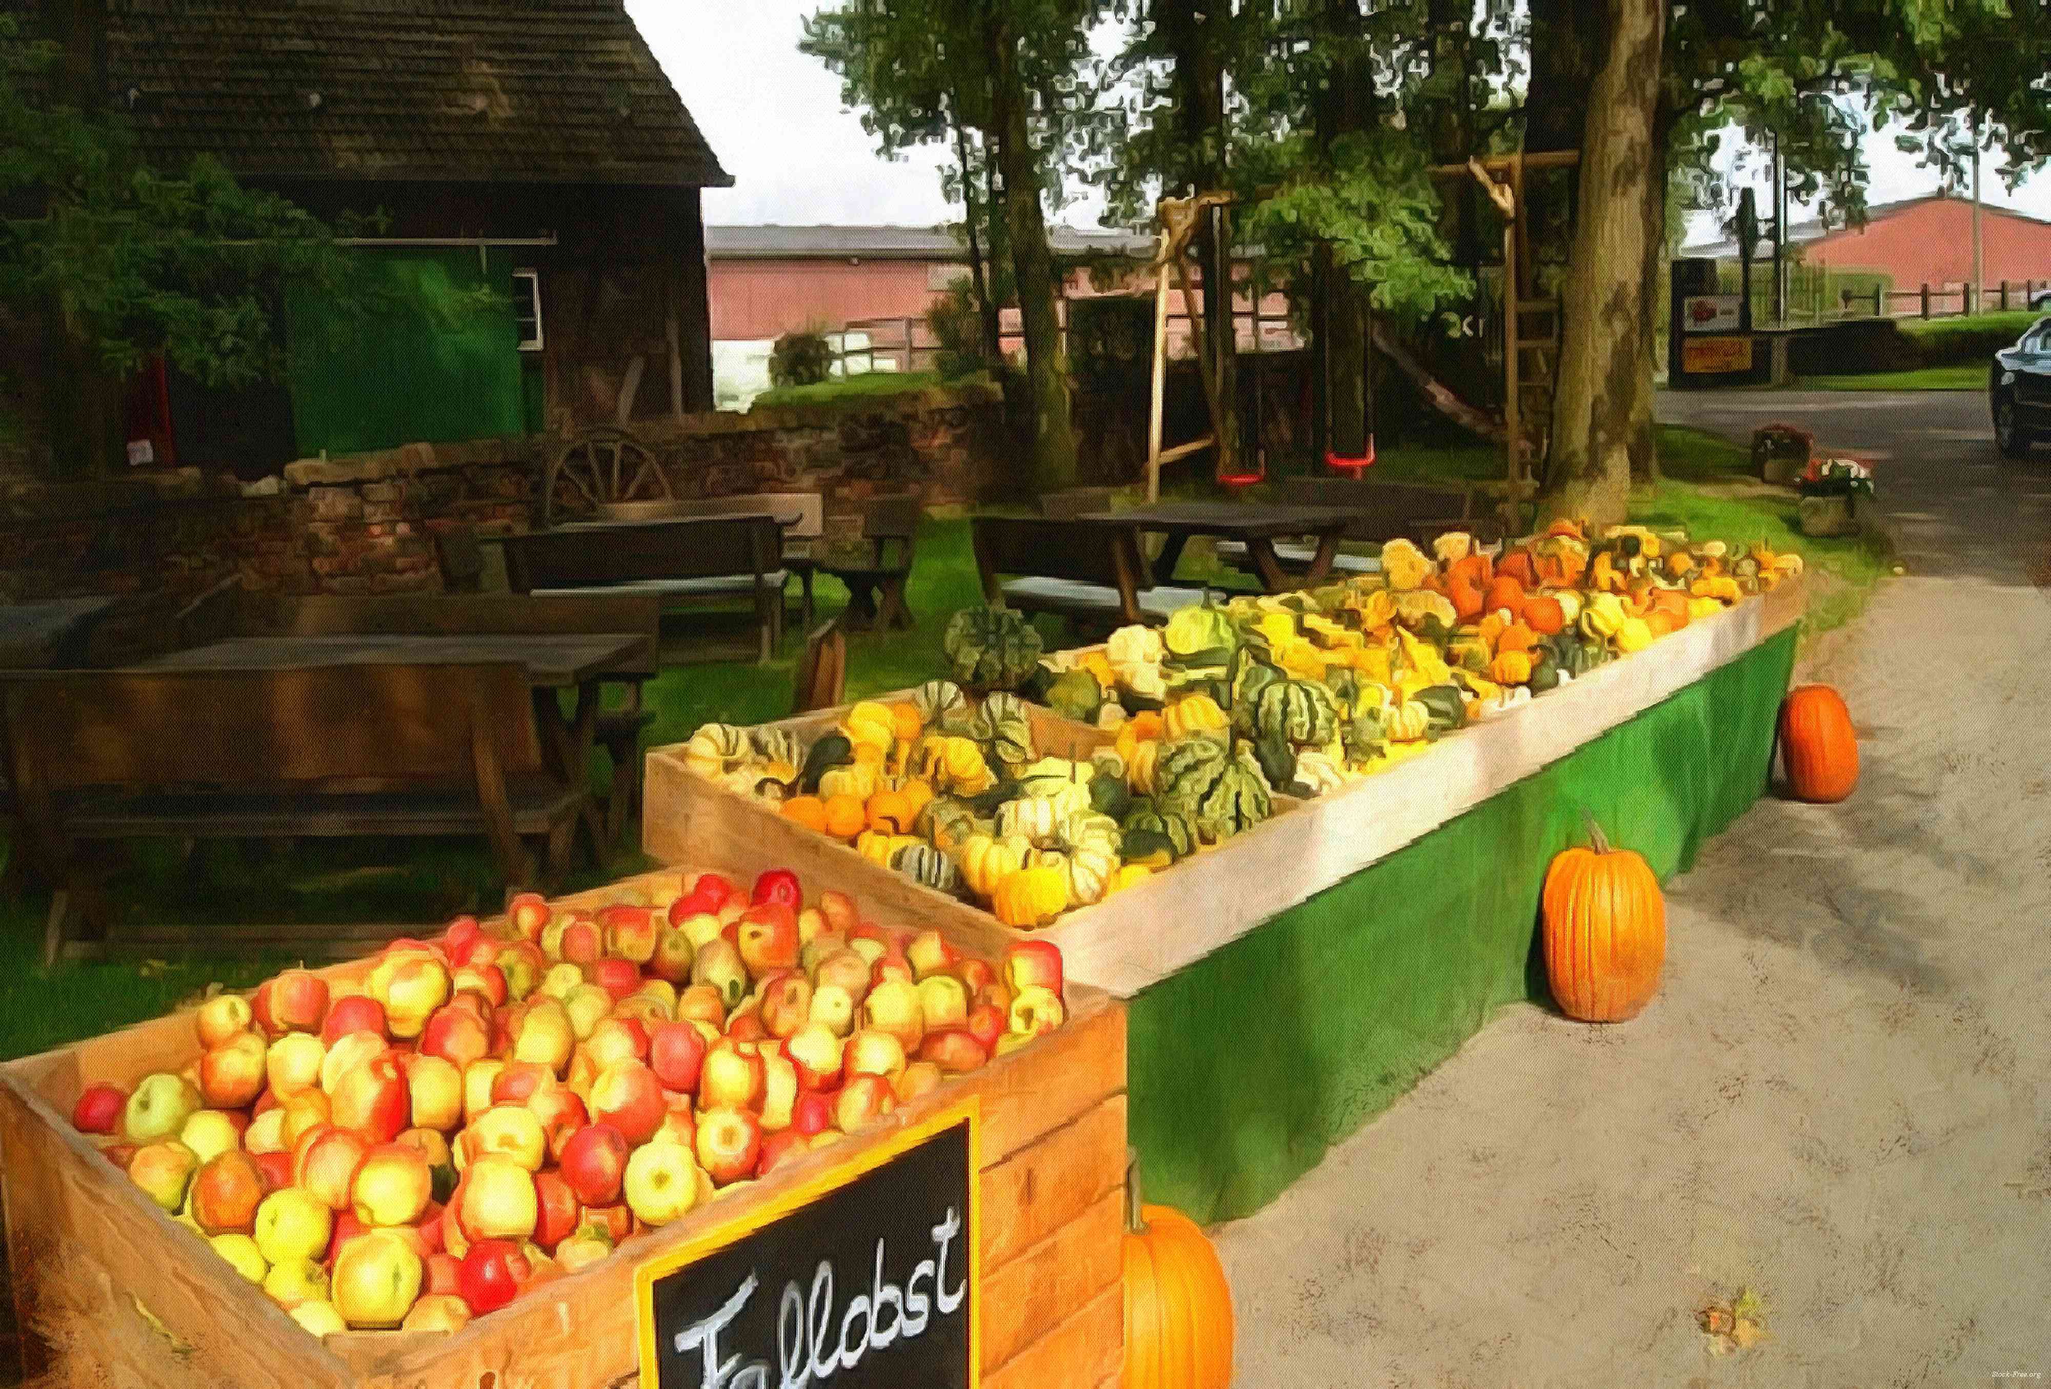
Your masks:
M1060 946L1071 979L1132 998L1737 660L1799 623L1805 608L1805 580L1784 580L1374 776L1315 801L1278 795L1276 815L1231 842L1030 934ZM839 713L773 727L814 738ZM1034 740L1042 754L1087 758L1110 735L1036 705ZM790 865L800 875L859 883L866 901L948 922L962 938L984 942L984 951L1028 934L783 819L773 805L691 774L681 748L648 754L642 846L667 862L710 856L749 871Z

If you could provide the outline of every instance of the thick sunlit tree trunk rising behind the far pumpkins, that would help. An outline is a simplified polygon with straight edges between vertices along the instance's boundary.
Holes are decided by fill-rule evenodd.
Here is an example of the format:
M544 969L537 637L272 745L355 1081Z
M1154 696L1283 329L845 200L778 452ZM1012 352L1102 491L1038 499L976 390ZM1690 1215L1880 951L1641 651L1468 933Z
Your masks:
M1645 303L1647 182L1665 166L1653 150L1665 0L1608 0L1602 68L1587 90L1581 205L1561 295L1561 363L1553 463L1540 518L1606 527L1631 504L1631 440L1651 354ZM1663 197L1663 186L1661 186Z

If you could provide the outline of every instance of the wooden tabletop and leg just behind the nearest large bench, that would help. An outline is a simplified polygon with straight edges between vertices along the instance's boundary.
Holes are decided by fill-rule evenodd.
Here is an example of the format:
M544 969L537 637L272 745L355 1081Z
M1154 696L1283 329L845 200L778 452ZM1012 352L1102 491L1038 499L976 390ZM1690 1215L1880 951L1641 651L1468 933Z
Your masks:
M566 785L589 787L591 748L599 727L599 686L607 676L654 670L656 654L640 633L476 633L476 635L328 635L230 637L170 651L144 670L301 670L306 666L431 666L513 664L527 668L535 725L550 770ZM576 713L564 719L556 690L576 690ZM587 795L589 801L589 795ZM605 828L595 805L582 811L593 852L603 862Z

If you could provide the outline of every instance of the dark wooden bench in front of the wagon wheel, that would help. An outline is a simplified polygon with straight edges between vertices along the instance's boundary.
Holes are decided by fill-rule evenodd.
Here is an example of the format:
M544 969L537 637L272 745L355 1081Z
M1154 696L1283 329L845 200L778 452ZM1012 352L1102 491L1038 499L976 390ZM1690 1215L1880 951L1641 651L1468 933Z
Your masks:
M783 529L773 516L562 527L500 541L517 594L634 594L665 611L749 598L759 660L783 639Z

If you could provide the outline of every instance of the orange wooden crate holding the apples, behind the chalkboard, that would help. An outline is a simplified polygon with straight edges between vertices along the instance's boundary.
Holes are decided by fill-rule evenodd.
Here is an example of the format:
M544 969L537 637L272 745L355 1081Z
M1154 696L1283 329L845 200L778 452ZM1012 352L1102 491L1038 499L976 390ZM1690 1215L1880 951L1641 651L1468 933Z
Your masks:
M722 865L738 869L740 865ZM802 869L800 869L802 871ZM564 897L617 899L630 879ZM820 879L822 883L837 879ZM845 883L866 893L863 883ZM937 926L863 895L874 920ZM357 961L322 971L357 977ZM1124 1356L1126 1014L1069 987L1067 1026L952 1078L937 1092L769 1178L728 1188L685 1219L550 1282L455 1334L308 1336L197 1235L180 1229L72 1129L84 1086L133 1084L199 1055L191 1014L0 1065L0 1196L37 1385L166 1389L558 1389L634 1385L638 1264L777 1201L902 1129L978 1096L982 1190L982 1385L1042 1389L1118 1381Z

